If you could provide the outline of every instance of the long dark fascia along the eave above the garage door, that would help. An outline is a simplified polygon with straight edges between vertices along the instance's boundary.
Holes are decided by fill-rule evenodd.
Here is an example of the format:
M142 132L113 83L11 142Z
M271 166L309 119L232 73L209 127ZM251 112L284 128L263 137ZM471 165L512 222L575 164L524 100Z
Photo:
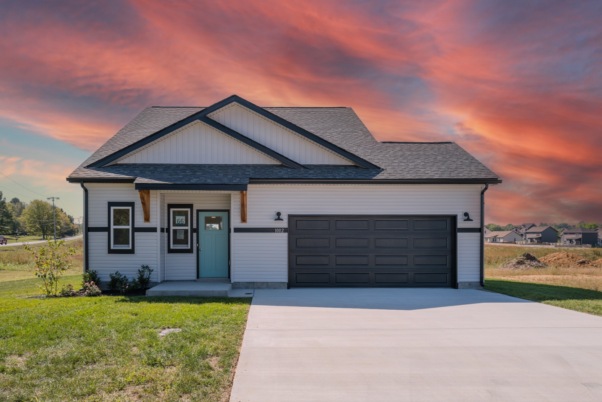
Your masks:
M312 179L312 178L249 178L249 184L498 184L500 179Z

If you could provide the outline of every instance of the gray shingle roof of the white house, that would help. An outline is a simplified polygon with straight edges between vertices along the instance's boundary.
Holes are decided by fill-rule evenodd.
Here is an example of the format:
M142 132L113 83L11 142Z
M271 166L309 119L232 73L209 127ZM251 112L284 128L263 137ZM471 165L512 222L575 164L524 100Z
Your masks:
M131 179L137 183L246 183L249 178L333 178L361 180L496 179L498 176L455 142L377 142L349 107L266 107L287 121L368 160L382 170L358 166L115 164L86 168L202 110L202 107L147 107L107 140L69 178ZM186 180L186 181L183 181ZM204 180L204 181L203 181Z

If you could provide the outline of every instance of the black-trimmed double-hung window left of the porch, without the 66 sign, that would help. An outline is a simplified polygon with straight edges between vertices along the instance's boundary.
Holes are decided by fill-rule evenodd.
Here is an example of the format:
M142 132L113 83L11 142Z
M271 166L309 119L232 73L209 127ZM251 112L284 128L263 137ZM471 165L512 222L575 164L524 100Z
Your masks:
M134 254L135 203L108 203L108 252Z

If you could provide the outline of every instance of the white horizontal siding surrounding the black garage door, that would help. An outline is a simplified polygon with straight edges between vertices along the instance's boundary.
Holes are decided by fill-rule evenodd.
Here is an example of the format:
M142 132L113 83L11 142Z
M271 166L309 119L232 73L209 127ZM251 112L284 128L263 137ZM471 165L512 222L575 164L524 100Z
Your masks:
M478 185L249 185L248 223L232 195L234 227L287 227L288 215L458 215L458 227L480 227ZM462 212L472 222L464 222ZM276 212L284 221L274 221ZM233 233L233 281L287 281L286 233ZM480 234L458 233L458 280L479 281Z

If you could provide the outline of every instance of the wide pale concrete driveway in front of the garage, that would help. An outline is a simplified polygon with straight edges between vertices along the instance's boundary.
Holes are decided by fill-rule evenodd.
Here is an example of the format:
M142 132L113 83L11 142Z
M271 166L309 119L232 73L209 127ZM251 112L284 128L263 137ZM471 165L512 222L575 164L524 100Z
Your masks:
M256 290L230 400L601 401L602 318L475 290Z

